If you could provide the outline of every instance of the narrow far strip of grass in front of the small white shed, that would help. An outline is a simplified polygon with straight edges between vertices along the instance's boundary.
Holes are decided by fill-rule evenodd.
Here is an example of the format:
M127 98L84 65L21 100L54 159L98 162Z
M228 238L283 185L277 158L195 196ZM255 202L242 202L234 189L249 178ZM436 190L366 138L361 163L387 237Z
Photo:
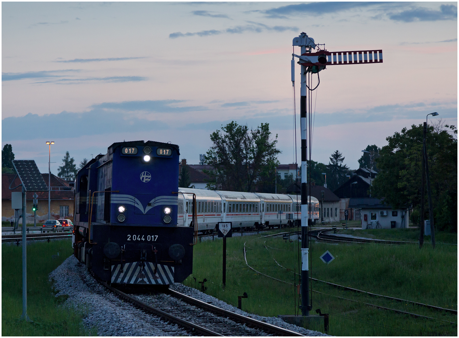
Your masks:
M405 242L418 242L419 241L419 229L338 229L338 233L349 234L358 237L385 239L391 241L405 241ZM439 232L435 234L435 244L450 243L457 244L458 234L457 233L443 233ZM430 236L424 236L424 243L431 243Z

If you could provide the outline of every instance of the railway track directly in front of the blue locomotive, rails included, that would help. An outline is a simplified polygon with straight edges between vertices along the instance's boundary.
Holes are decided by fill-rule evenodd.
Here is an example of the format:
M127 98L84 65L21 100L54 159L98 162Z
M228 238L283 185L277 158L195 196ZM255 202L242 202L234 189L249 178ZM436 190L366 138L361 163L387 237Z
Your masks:
M135 306L184 327L197 336L303 336L298 332L224 310L201 300L167 290L164 294L132 295L101 282ZM155 306L151 304L154 303Z

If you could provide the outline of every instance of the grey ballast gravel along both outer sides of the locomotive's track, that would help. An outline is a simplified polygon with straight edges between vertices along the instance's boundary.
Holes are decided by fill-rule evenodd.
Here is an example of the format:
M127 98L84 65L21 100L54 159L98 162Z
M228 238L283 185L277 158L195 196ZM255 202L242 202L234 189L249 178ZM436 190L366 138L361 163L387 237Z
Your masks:
M156 316L147 314L110 293L95 281L94 277L87 272L86 266L81 264L73 255L50 273L50 279L54 280L53 286L57 292L56 297L68 295L63 306L83 311L85 328L88 330L95 329L98 336L190 336L188 332L176 324L170 324ZM280 318L247 313L180 283L174 283L170 288L225 310L250 316L253 319L307 336L327 336L322 332L288 324Z

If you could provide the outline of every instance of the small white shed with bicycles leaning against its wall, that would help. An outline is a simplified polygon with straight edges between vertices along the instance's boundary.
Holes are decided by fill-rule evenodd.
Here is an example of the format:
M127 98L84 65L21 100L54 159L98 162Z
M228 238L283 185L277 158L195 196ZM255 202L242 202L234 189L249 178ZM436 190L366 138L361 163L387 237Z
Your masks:
M376 222L379 222L383 229L408 227L408 210L394 209L390 205L383 204L381 199L373 197L351 198L349 199L349 208L354 208L360 213L362 229L366 229L370 222L372 222L373 227L376 227Z

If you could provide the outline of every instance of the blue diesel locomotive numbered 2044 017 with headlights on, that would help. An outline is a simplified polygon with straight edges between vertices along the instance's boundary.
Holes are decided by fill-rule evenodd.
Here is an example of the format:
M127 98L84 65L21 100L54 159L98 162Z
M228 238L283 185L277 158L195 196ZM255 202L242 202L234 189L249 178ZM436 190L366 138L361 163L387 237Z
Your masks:
M183 282L194 227L178 226L179 146L118 142L76 177L74 255L114 284Z

